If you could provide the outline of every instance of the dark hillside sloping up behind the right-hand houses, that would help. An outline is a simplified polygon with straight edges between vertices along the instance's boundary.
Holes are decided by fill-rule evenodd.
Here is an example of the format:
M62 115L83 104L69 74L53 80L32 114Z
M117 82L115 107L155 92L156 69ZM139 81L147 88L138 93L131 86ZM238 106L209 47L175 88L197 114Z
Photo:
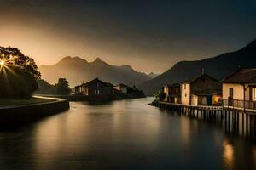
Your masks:
M182 82L198 76L202 68L208 75L222 79L236 71L238 67L256 68L256 40L236 52L221 54L210 59L178 62L170 70L148 82L143 82L138 88L143 89L145 94L152 95L166 83Z

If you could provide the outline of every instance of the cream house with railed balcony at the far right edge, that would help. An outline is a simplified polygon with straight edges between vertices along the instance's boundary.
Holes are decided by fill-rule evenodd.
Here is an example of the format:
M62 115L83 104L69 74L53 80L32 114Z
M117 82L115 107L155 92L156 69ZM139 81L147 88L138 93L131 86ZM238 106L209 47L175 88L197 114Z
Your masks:
M224 107L256 109L256 69L241 69L222 81Z

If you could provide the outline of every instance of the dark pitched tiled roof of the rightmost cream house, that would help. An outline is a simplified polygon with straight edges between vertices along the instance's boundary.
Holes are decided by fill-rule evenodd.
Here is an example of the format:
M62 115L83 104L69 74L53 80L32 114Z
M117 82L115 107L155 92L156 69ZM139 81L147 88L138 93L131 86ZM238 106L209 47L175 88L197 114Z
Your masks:
M256 83L256 69L241 69L230 77L226 77L222 83Z

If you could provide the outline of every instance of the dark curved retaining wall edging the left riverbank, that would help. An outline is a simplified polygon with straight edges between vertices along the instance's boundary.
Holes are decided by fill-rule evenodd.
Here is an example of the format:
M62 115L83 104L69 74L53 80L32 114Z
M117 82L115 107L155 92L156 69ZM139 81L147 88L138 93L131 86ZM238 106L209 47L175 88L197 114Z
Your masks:
M45 101L45 99L38 100ZM68 109L69 102L66 99L49 99L48 102L43 103L2 106L0 107L0 131L20 127Z

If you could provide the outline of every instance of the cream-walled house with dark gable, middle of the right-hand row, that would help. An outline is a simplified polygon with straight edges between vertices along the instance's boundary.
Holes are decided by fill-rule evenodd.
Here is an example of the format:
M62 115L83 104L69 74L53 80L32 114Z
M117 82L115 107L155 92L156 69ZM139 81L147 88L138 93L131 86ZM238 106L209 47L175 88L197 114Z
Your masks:
M183 105L221 105L221 85L202 74L181 83L181 98Z

